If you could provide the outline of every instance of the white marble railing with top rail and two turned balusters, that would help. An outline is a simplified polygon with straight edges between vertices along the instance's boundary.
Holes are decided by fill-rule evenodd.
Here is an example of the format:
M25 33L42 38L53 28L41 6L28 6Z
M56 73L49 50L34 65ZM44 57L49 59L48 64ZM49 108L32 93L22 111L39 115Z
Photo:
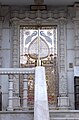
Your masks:
M0 75L8 75L9 87L8 87L8 108L7 110L13 111L13 76L23 75L23 106L24 110L27 109L27 87L28 87L28 75L34 74L35 68L0 68Z

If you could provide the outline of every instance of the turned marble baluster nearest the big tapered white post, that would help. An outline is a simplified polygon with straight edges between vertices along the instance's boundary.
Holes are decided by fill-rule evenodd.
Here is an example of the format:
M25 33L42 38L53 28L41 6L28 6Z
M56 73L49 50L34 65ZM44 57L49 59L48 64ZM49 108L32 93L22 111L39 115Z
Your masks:
M23 110L27 110L27 90L28 90L28 80L27 80L28 75L24 75L23 79Z

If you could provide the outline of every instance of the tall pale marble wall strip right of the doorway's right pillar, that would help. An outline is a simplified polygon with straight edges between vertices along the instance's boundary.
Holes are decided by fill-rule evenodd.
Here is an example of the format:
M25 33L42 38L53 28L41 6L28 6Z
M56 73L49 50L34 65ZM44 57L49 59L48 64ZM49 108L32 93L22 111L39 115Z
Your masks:
M74 25L71 21L67 24L67 81L70 108L74 109Z

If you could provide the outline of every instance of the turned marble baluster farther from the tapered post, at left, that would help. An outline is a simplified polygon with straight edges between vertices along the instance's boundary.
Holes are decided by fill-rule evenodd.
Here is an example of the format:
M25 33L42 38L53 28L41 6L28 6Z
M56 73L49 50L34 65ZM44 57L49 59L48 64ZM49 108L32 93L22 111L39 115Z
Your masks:
M13 111L13 75L9 75L8 111Z

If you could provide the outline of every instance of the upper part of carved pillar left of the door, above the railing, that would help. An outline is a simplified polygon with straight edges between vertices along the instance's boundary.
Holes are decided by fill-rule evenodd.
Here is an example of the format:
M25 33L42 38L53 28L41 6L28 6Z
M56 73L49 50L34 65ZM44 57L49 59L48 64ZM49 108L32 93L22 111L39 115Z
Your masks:
M19 24L18 19L12 23L13 28L13 67L19 67Z

